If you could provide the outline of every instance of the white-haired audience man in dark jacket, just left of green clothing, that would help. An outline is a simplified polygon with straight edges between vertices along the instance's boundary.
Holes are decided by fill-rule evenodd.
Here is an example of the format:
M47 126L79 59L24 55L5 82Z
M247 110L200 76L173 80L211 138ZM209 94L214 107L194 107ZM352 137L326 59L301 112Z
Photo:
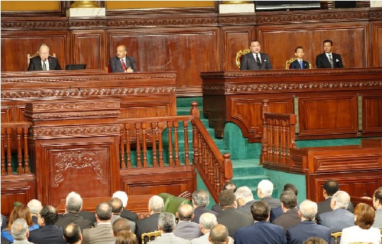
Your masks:
M158 231L158 218L164 206L163 198L160 196L154 195L148 200L148 212L150 216L136 222L136 237L139 243L142 242L141 235L143 233Z

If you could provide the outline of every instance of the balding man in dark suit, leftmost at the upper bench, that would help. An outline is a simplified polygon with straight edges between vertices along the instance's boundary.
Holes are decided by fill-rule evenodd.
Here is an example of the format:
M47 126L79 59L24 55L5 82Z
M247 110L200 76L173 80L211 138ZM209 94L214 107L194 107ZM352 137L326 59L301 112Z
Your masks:
M49 47L45 43L38 48L38 56L29 60L28 71L62 70L58 59L49 55Z

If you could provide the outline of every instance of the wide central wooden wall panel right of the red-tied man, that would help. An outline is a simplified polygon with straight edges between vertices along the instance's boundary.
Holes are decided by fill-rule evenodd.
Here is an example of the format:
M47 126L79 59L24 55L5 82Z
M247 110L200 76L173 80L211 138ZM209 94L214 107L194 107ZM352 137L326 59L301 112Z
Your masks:
M200 72L219 69L218 28L150 28L108 30L107 40L115 55L126 45L140 72L176 71L178 89L201 91ZM109 57L110 58L110 57Z

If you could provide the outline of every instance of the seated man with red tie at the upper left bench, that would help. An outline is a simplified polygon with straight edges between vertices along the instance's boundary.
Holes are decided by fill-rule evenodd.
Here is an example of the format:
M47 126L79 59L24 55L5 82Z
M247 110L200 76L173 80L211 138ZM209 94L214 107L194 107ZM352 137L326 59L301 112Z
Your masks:
M116 47L116 57L111 57L109 61L111 72L136 72L136 60L127 55L127 48L124 45Z

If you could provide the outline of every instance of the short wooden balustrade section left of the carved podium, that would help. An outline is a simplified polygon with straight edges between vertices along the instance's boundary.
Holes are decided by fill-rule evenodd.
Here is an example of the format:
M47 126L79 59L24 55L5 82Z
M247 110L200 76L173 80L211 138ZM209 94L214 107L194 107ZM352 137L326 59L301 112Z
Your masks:
M28 128L27 122L1 123L1 175L12 174L13 148L17 154L17 173L30 173Z

